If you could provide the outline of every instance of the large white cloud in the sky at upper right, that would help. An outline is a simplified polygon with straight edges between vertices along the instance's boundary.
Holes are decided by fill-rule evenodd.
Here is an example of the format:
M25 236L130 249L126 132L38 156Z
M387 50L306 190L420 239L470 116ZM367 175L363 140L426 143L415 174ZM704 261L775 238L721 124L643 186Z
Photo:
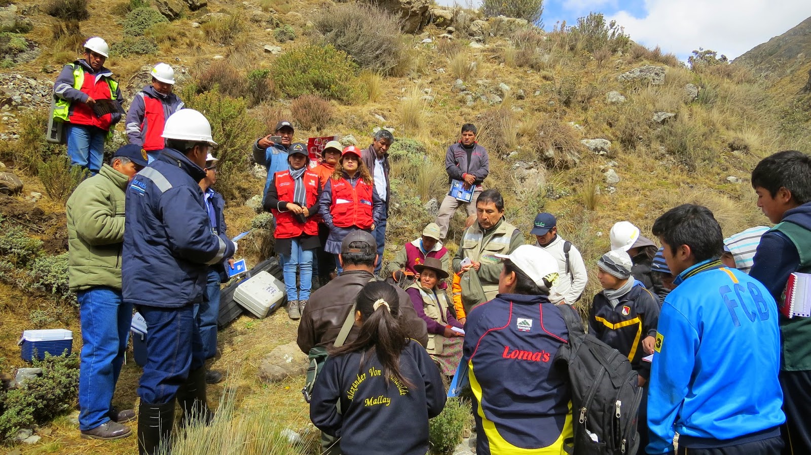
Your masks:
M685 56L702 47L730 57L811 16L809 0L646 0L646 17L611 15L632 40Z

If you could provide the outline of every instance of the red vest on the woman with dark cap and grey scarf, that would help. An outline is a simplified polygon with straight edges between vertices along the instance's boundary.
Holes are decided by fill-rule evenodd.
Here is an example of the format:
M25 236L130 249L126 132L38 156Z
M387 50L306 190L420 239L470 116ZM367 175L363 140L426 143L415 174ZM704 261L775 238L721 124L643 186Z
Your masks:
M276 172L276 192L280 201L292 202L295 193L295 182L290 176L290 171ZM304 192L307 194L307 206L315 206L318 199L318 175L315 172L304 172ZM308 236L318 235L318 219L313 215L307 218L307 223L299 223L291 211L271 210L276 217L276 232L273 234L277 239L292 239L294 237L307 234Z

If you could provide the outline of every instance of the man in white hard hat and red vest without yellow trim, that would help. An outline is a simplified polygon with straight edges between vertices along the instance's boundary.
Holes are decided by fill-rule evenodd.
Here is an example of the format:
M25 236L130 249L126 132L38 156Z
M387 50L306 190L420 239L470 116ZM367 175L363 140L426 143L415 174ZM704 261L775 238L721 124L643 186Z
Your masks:
M135 94L127 112L127 141L141 146L149 156L149 162L165 147L161 136L166 119L183 108L183 102L172 92L174 70L165 63L158 63L150 71L152 84Z

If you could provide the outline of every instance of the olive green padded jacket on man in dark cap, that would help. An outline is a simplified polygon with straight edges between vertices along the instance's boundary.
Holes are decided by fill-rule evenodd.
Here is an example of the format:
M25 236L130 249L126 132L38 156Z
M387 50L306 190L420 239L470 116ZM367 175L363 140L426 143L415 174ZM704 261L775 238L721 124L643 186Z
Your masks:
M124 190L129 177L105 164L67 200L71 291L106 286L121 289Z

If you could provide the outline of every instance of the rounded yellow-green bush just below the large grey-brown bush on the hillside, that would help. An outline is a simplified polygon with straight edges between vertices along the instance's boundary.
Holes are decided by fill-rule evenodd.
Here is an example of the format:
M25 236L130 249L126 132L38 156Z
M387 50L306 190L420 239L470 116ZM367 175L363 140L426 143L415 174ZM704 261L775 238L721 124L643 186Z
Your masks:
M273 80L286 96L313 94L330 100L358 100L358 66L333 45L307 45L282 53L273 65Z

